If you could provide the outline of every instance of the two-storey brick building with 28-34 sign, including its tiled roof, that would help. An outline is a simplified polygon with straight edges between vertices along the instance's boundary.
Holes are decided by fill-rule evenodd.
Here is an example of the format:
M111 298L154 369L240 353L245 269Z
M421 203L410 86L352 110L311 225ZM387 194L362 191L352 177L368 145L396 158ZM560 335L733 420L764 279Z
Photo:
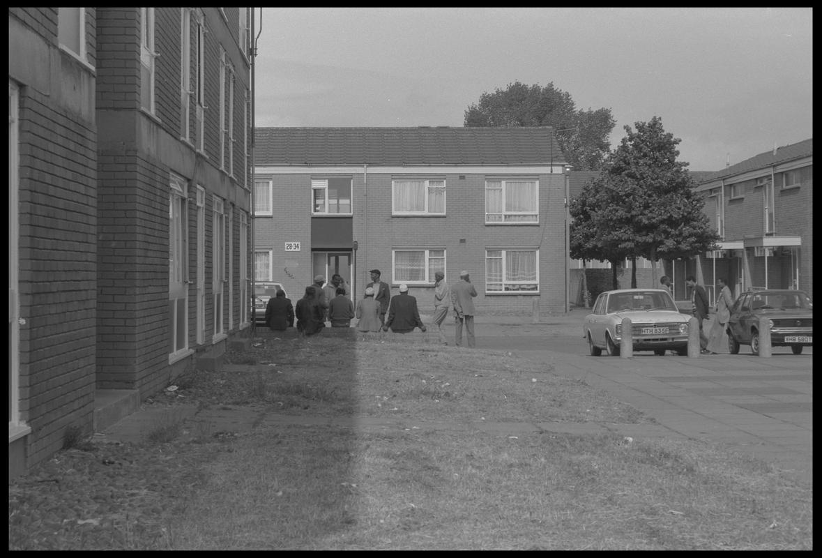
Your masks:
M377 268L425 312L468 270L480 313L565 311L564 164L550 127L257 128L255 280Z

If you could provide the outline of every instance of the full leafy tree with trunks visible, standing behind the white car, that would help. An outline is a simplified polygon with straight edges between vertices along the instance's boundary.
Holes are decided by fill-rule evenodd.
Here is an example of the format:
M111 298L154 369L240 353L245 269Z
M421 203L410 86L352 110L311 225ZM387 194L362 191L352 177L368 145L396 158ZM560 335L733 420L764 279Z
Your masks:
M626 137L608 156L600 178L591 183L595 191L583 189L583 195L590 196L584 210L580 203L572 205L575 219L577 208L579 219L588 222L572 228L571 245L596 244L586 253L612 264L625 257L642 256L655 262L660 257L689 258L712 250L718 235L703 213L704 202L693 190L688 164L677 161L681 140L666 132L658 117L636 122L635 127L636 131L625 127ZM610 251L620 257L604 257ZM652 273L656 284L655 267ZM635 268L631 286L636 287Z

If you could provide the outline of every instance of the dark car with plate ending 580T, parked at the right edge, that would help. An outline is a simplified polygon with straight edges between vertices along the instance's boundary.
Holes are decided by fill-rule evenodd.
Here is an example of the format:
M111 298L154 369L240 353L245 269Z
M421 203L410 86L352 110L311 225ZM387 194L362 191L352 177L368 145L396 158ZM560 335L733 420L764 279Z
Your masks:
M731 306L727 321L727 348L738 354L740 345L760 353L760 319L768 318L771 347L790 347L793 354L814 346L814 304L804 291L749 290Z

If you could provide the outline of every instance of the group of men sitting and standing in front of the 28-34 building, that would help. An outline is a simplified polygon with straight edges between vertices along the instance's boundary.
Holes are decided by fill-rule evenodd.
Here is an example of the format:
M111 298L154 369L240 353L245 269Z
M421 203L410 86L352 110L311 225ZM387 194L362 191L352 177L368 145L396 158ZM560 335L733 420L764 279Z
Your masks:
M325 284L325 277L317 275L314 283L306 287L296 307L292 306L281 289L275 297L271 297L266 306L266 325L271 330L283 331L293 327L296 319L300 334L313 335L326 326L326 321L330 322L331 327L350 327L351 321L356 319L357 330L362 332L391 330L405 334L415 328L426 331L419 316L417 298L409 294L408 285L400 284L399 295L391 297L390 286L381 280L380 270L369 273L371 283L366 285L365 297L357 302L356 309L350 298L351 288L339 274L332 275L329 284ZM468 346L474 347L473 297L477 296L477 290L471 284L468 271L460 273L459 281L453 285L446 284L445 274L441 271L436 272L435 279L433 323L441 343L448 344L442 324L446 321L448 309L453 307L456 345L462 345L464 326Z

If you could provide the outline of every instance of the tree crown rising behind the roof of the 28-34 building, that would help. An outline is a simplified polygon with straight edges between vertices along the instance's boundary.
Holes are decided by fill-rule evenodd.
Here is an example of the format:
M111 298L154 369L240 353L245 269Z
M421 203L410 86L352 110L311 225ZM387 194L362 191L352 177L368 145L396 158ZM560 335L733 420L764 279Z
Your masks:
M610 108L577 110L569 93L553 83L544 87L515 81L505 90L483 93L465 111L465 127L550 126L576 170L599 170L611 149L608 136L616 121Z

